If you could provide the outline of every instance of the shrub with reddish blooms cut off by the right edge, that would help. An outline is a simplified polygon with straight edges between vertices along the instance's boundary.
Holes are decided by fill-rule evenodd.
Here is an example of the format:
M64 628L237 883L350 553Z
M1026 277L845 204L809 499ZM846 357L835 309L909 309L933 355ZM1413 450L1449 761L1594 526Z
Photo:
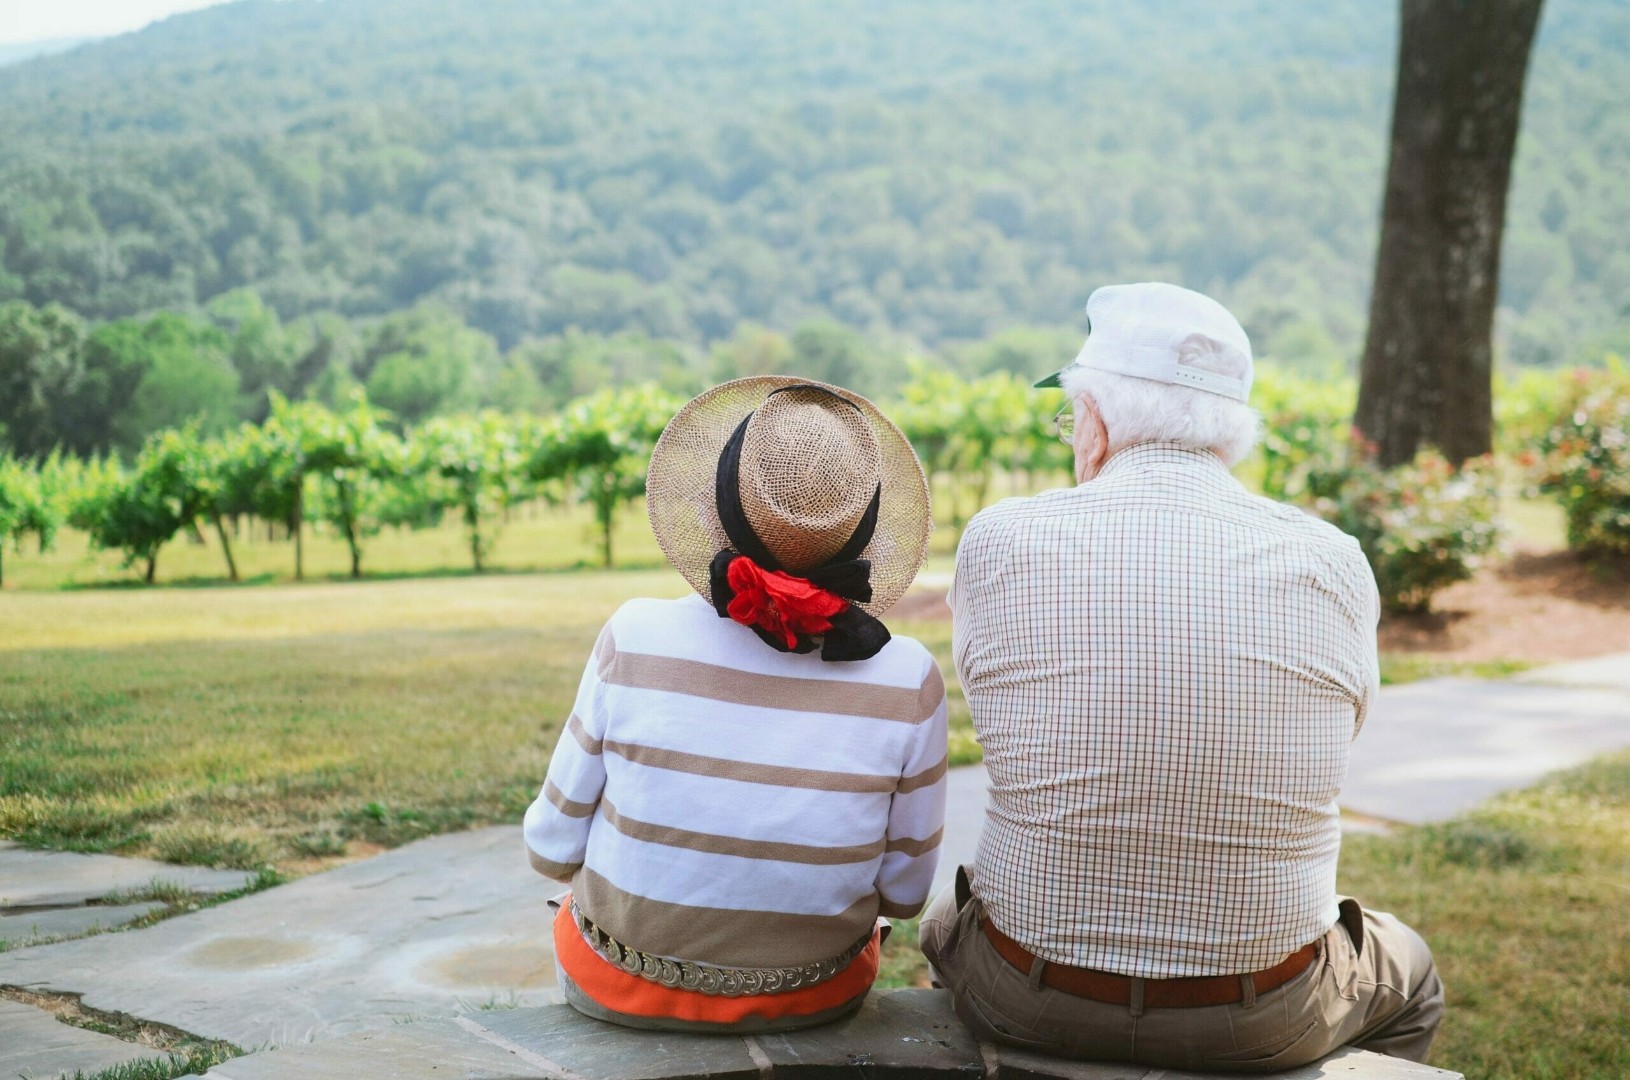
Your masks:
M1539 451L1526 463L1568 518L1568 547L1630 555L1630 370L1575 371Z

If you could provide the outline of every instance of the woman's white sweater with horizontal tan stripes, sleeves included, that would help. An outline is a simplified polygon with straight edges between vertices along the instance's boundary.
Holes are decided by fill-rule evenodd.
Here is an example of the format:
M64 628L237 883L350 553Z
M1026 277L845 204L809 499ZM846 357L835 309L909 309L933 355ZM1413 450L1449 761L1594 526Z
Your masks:
M944 814L945 686L923 645L823 663L691 595L611 616L525 836L624 945L779 968L921 911Z

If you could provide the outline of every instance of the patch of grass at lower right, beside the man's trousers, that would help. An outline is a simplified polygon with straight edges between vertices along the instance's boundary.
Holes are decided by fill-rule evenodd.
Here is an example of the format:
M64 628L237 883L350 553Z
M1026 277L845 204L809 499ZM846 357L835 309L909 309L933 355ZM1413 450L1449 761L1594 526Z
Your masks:
M1433 946L1433 1060L1467 1077L1630 1077L1630 754L1446 826L1348 837L1343 891Z

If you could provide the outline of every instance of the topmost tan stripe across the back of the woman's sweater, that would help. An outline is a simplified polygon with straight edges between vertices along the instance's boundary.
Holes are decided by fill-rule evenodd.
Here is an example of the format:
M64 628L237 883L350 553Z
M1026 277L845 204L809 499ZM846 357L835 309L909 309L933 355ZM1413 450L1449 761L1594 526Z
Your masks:
M926 709L923 705L929 697L927 683L921 689L911 689L841 679L794 679L654 653L616 653L603 678L618 686L689 694L758 709L828 712L905 723L923 723L939 707L939 697L934 697L932 705Z

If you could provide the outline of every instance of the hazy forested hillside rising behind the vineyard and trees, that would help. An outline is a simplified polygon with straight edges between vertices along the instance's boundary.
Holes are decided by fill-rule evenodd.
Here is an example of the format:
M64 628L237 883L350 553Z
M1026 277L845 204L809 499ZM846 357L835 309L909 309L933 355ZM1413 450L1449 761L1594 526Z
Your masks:
M1363 332L1394 34L1384 0L244 0L0 68L0 301L936 345L1159 277L1327 365ZM1550 0L1508 358L1630 337L1625 101L1630 5Z

